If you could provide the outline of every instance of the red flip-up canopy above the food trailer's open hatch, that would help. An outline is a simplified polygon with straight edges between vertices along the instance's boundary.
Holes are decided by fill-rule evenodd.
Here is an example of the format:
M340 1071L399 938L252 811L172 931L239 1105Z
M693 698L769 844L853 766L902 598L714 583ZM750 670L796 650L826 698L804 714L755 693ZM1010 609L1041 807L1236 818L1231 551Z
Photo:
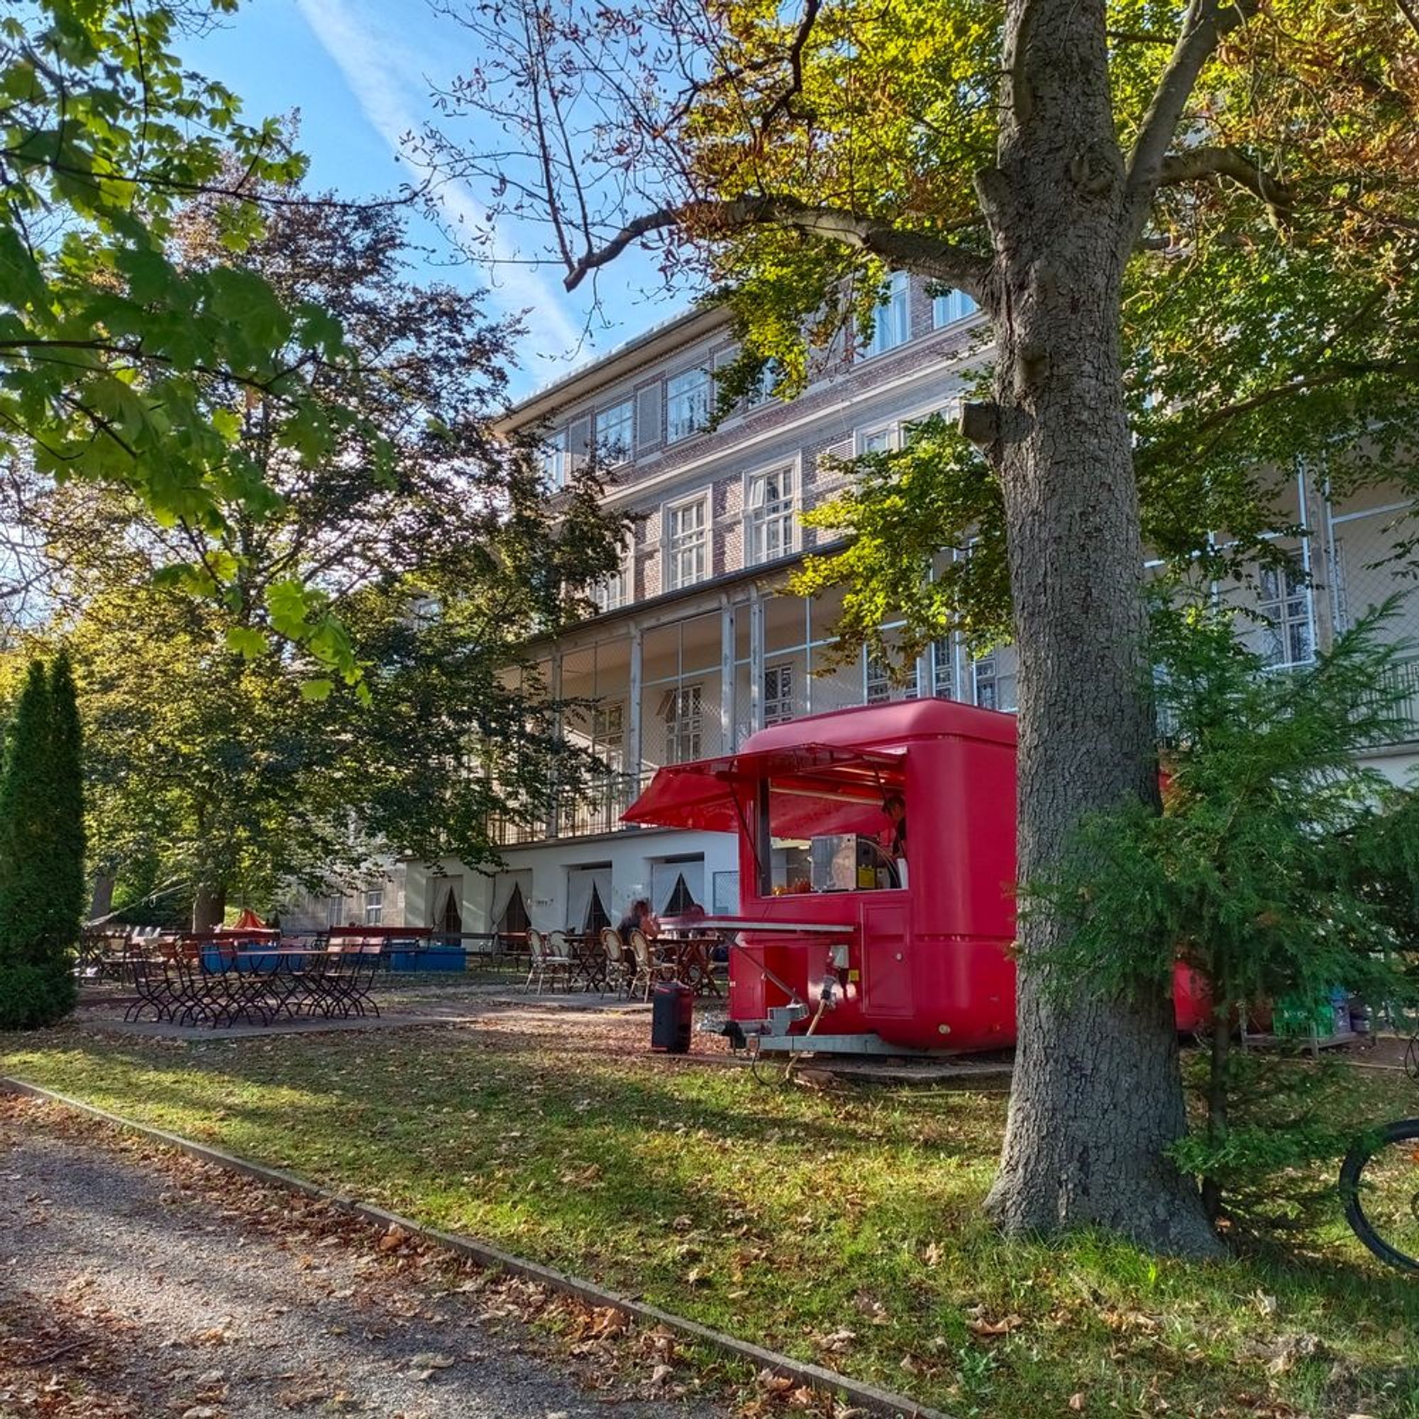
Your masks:
M846 833L860 830L864 813L880 819L883 797L901 792L905 762L901 752L802 744L671 763L657 771L622 822L734 833L741 827L738 802L762 779L772 789L775 834Z

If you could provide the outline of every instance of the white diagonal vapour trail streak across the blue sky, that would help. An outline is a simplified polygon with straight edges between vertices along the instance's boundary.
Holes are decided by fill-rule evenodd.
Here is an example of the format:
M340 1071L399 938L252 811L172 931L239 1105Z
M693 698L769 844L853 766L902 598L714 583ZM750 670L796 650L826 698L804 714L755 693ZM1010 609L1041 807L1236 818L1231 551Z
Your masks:
M348 0L297 0L311 33L335 61L345 84L370 128L394 153L403 155L400 139L419 126L419 109L427 98L424 70L399 35L375 28L358 16ZM447 183L440 201L457 224L480 226L482 209L467 186ZM525 324L532 348L541 355L565 356L580 338L568 319L556 287L524 265L498 265L514 253L495 238L492 248L491 298L505 314L526 311Z

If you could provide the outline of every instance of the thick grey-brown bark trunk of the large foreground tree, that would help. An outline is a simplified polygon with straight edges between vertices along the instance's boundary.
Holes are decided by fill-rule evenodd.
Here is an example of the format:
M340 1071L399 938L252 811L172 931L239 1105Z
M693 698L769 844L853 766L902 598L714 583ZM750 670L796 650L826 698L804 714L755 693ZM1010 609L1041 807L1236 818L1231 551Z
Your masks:
M1019 870L1047 873L1090 809L1156 802L1142 541L1118 352L1122 158L1103 4L1010 0L1010 99L981 190L995 241L998 424L1019 678ZM1000 1172L1009 1232L1100 1225L1162 1250L1218 1242L1166 1161L1186 1127L1169 982L1101 999L1051 982L1063 928L1023 924Z

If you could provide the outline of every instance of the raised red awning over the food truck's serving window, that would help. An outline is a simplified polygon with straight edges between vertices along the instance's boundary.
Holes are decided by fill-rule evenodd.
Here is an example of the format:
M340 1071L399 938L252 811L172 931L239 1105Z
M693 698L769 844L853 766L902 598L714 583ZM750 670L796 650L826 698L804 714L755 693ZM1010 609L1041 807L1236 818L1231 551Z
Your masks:
M905 763L900 752L837 744L800 744L671 763L656 772L650 788L622 813L622 822L732 833L741 826L735 788L759 779L769 779L776 793L846 796L880 806L885 793L901 792Z

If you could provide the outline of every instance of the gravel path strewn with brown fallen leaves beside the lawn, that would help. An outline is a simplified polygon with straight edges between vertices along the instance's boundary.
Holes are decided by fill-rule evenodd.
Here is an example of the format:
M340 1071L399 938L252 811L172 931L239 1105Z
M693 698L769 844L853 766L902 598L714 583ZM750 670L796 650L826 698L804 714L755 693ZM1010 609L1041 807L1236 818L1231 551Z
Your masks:
M525 1324L548 1304L61 1111L0 1107L0 1416L724 1413L681 1398L667 1337L633 1344L612 1313L556 1303L551 1341Z

